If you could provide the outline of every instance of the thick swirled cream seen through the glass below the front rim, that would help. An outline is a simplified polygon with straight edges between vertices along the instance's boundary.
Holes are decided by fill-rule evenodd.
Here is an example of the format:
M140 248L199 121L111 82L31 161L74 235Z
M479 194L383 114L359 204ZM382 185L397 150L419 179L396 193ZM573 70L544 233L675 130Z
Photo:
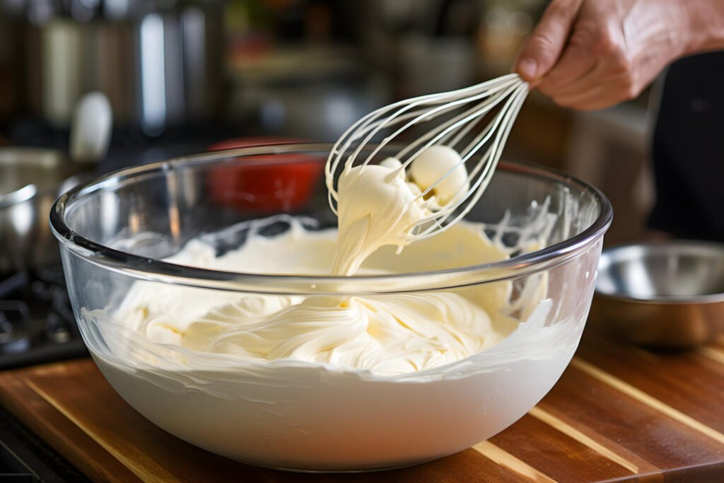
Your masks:
M452 293L374 298L312 297L271 316L247 296L214 308L182 331L168 320L141 324L159 340L244 360L294 359L369 369L378 374L424 371L497 343L485 311ZM165 335L164 335L165 332Z

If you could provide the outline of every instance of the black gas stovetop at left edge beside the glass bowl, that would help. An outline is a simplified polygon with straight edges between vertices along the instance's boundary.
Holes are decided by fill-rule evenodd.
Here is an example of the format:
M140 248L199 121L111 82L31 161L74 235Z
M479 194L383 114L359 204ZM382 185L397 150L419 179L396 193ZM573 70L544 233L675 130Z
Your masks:
M87 353L60 267L0 280L0 370Z

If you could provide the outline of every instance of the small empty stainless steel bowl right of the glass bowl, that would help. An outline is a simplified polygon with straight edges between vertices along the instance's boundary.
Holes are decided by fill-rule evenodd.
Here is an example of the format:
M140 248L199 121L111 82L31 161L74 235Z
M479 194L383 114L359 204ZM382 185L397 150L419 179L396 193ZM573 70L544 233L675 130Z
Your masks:
M603 251L592 316L641 345L711 340L724 332L724 244L668 240Z

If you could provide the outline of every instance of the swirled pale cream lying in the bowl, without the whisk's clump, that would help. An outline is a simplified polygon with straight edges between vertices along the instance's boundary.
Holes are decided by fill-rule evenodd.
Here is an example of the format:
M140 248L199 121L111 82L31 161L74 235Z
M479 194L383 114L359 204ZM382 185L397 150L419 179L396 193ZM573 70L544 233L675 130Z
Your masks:
M251 236L235 251L216 257L194 240L170 261L212 269L266 274L326 274L336 230L305 230L292 223L275 237ZM416 246L419 245L419 246ZM362 266L362 274L385 266L414 272L419 257L440 268L507 257L479 225L461 224L442 238L416 243L409 256L392 247ZM405 253L405 255L408 255ZM505 286L505 285L504 285ZM507 288L507 286L505 286ZM499 287L502 288L502 287ZM466 296L467 295L467 296ZM136 282L117 319L150 342L240 361L293 360L330 364L374 374L425 371L460 361L500 342L510 331L501 314L505 289L460 293L310 297L253 295ZM497 325L489 316L492 311Z

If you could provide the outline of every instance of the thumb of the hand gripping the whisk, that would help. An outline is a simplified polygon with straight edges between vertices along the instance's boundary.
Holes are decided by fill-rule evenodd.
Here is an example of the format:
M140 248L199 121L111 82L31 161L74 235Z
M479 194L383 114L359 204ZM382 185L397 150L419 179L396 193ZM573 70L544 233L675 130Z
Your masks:
M551 1L533 33L523 43L513 64L513 71L529 83L546 75L558 62L583 2Z

